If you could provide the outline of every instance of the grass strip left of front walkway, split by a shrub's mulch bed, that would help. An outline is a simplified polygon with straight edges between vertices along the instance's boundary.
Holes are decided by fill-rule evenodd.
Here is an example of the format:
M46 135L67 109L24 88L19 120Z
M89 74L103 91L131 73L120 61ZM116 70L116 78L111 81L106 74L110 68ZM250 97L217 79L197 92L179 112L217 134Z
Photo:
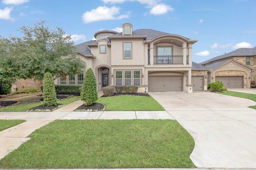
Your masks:
M65 100L58 100L58 104L70 104L72 102L75 102L76 100L80 100L79 97L71 97L67 98ZM2 107L0 108L0 111L27 111L30 108L40 106L42 105L43 102L37 102L37 103L32 103L32 104L27 104L27 105L17 105L17 106L7 106L7 107Z

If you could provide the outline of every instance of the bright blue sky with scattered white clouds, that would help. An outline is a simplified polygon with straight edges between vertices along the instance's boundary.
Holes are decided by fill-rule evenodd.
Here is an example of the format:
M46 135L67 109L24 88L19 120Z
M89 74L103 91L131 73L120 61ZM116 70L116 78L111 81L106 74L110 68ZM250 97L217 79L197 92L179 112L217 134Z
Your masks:
M103 29L155 29L198 40L200 63L238 48L256 46L256 0L1 0L0 35L20 36L21 26L45 20L74 43L90 41Z

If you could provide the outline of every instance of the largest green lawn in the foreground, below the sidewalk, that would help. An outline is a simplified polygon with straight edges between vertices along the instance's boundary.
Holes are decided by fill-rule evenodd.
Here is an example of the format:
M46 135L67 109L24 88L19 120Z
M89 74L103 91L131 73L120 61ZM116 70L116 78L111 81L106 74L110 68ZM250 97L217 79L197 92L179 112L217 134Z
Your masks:
M0 160L1 169L195 168L174 120L55 120Z

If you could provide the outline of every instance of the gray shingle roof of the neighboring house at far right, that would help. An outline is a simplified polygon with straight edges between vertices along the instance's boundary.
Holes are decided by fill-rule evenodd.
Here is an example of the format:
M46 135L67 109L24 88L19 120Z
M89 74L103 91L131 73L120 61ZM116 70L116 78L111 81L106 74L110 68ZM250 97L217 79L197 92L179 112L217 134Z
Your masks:
M230 53L226 53L224 55L220 55L217 57L214 57L212 59L209 59L207 61L204 61L202 63L199 64L207 64L213 61L217 61L220 59L225 59L225 58L230 58L230 57L244 57L244 56L255 56L256 55L256 47L254 48L240 48L240 49L236 49L234 51L231 51Z

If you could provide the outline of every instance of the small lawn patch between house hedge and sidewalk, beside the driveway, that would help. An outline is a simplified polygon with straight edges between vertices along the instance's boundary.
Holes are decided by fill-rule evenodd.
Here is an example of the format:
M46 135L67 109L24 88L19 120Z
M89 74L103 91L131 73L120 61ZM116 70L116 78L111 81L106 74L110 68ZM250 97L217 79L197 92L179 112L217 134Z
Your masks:
M154 98L146 96L121 95L99 98L98 103L106 105L108 111L155 111L164 110Z

